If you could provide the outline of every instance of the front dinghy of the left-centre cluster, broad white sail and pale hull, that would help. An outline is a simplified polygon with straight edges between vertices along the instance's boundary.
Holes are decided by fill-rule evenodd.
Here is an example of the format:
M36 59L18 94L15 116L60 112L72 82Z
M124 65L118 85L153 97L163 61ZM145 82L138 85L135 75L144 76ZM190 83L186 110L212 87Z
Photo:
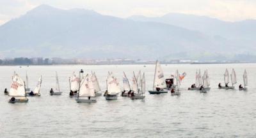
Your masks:
M89 77L89 75L87 74L82 79L81 84L79 86L76 102L85 102L85 103L96 102L95 99L91 99L92 97L95 97L95 96L96 95L93 88L92 78ZM88 99L81 99L81 97L88 97Z

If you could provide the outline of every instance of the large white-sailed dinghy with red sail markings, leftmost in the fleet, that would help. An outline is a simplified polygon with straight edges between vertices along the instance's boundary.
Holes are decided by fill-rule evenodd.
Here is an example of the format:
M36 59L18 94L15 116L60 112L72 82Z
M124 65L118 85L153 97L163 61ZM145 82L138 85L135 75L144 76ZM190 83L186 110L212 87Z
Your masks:
M28 102L25 88L25 82L20 78L18 74L15 74L13 76L12 85L8 94L9 96L12 96L12 98L8 102ZM18 99L17 97L23 98Z

